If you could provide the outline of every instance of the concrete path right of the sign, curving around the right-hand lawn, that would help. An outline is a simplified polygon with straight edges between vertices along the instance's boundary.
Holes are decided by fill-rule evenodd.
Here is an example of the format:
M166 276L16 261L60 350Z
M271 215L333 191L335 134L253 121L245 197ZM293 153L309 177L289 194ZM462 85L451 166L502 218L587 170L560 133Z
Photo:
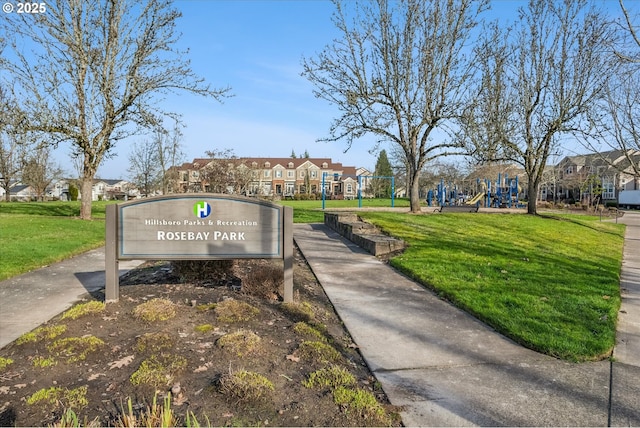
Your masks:
M294 239L406 426L639 426L640 215L623 219L615 363L523 348L324 225L295 225Z

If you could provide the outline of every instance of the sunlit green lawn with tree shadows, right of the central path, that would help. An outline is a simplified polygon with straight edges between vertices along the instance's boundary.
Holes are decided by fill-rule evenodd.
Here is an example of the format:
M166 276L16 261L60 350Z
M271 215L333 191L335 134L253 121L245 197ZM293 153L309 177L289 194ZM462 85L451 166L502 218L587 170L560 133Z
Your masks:
M360 215L409 244L392 266L516 342L574 361L613 348L623 225L583 216Z

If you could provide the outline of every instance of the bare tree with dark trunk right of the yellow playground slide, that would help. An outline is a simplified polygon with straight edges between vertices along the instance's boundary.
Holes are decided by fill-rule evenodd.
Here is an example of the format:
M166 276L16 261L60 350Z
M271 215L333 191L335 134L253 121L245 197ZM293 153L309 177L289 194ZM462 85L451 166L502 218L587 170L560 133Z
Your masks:
M586 130L603 94L613 36L584 0L530 0L519 14L513 32L487 32L476 50L481 83L461 128L472 153L524 168L536 214L549 156L561 136Z

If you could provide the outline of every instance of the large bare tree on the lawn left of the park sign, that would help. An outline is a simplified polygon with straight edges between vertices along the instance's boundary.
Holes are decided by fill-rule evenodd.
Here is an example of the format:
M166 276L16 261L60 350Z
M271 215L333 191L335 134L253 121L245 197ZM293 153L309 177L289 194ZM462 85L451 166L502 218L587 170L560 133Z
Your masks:
M0 67L21 92L30 129L71 142L82 158L80 216L89 219L98 167L119 140L171 116L163 95L220 100L228 89L204 84L175 48L180 13L169 0L51 0L46 8L3 17L14 56Z

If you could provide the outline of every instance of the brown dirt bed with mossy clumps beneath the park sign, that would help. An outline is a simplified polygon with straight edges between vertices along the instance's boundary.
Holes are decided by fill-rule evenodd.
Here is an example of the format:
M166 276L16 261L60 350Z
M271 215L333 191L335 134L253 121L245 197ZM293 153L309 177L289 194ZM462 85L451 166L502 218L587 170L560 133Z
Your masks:
M189 413L203 426L400 426L397 409L388 404L299 253L293 305L282 303L281 284L261 288L247 282L251 271L267 271L273 263L238 262L224 286L181 283L168 262L129 272L121 280L118 303L76 319L58 316L34 340L0 350L0 426L53 424L69 407L83 425L96 420L113 426L121 424L129 405L140 414L154 397L160 404L170 397L179 425ZM86 301L102 299L94 295ZM136 308L151 301L168 304L172 315L158 321L137 317ZM241 303L248 315L222 316L229 306L222 303L229 301ZM90 339L95 348L84 359L76 358L80 351L61 353L69 338ZM337 355L308 351L329 348ZM336 388L344 396L343 387L309 387L310 376L328 367L350 372L356 385L349 388L371 393L384 416L363 410L353 398L337 398ZM259 395L243 395L248 386L231 382L249 376L262 382ZM34 399L38 394L45 399Z

